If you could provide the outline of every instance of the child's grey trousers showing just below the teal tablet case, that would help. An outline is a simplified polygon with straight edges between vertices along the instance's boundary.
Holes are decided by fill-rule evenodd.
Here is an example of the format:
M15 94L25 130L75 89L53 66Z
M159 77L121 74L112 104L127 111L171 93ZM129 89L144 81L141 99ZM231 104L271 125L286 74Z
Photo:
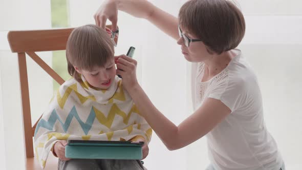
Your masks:
M140 160L114 160L114 159L59 159L58 170L146 170Z

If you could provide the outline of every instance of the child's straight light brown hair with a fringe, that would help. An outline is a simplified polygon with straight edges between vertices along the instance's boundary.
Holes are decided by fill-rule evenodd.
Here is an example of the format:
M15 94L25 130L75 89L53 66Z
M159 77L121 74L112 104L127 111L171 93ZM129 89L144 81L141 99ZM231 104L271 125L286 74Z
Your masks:
M67 41L66 59L68 73L77 81L81 78L74 66L92 71L96 66L104 67L109 58L114 57L114 44L109 34L96 25L75 28Z

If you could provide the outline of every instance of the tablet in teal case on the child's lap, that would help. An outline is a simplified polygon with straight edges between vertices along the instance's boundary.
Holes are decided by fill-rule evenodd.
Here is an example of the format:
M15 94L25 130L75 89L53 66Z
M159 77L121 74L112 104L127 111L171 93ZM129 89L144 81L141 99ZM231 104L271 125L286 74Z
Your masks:
M142 159L142 142L69 141L65 157L72 159Z

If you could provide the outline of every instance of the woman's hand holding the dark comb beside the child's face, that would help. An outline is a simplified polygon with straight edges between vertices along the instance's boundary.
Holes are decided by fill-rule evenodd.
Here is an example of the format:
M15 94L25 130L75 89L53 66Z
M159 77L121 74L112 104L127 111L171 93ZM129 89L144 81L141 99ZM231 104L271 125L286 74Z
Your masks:
M121 75L123 80L123 87L129 92L138 85L136 78L137 61L126 55L119 55L115 57L117 66L116 74Z

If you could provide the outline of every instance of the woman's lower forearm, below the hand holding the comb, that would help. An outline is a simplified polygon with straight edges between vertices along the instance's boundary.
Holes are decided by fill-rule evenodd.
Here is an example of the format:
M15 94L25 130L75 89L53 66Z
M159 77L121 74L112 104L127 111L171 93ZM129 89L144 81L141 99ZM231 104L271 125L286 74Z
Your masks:
M141 115L146 119L166 147L169 150L179 148L178 127L156 109L139 84L128 92Z

